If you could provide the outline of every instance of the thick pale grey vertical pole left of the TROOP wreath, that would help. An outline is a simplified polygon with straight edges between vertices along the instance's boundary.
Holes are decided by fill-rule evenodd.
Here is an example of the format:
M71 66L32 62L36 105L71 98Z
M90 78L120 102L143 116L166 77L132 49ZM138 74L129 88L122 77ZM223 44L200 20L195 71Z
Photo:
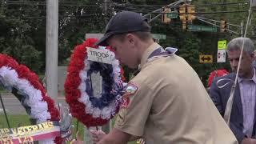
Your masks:
M58 98L58 0L46 2L46 88L47 94Z

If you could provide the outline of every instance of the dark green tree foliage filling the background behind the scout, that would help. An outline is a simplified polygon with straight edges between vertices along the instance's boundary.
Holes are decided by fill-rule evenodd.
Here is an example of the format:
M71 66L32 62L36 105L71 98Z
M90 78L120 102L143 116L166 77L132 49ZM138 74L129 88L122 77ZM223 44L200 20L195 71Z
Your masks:
M148 14L161 6L168 5L175 0L115 0L117 2L111 5L105 5L103 0L78 0L77 3L66 4L64 2L73 2L72 0L59 1L59 38L58 38L58 65L67 66L71 51L74 46L81 44L85 39L86 33L103 33L106 23L112 17L114 12L120 10L133 10ZM23 2L23 1L19 1ZM0 52L10 54L30 69L41 74L45 70L46 62L46 5L38 5L33 2L24 1L21 5L6 5L1 3L0 10ZM45 1L46 2L46 1ZM239 0L194 0L192 4L196 6L198 13L216 13L220 11L239 11L248 10L249 5L220 5L220 3L241 2ZM209 5L210 3L216 5ZM143 6L151 5L151 6ZM104 11L107 6L107 11ZM2 12L2 13L1 13ZM155 16L157 14L152 14ZM215 19L217 21L226 20L226 22L240 25L241 22L246 26L247 12L237 13L218 13L218 14L197 14L200 17ZM247 31L247 37L256 38L255 13L252 15L250 26ZM210 26L206 22L194 20L194 25ZM193 66L194 70L206 83L210 71L222 67L229 68L229 63L216 63L217 42L218 40L230 39L241 34L230 33L209 33L209 32L187 32L182 30L182 22L178 18L172 19L170 24L161 23L161 18L156 18L150 23L152 33L166 34L166 40L160 40L164 47L173 46L178 48L178 55L186 59ZM219 25L219 23L216 23ZM240 33L241 30L236 26L230 25L230 30ZM214 57L214 63L199 63L200 54L211 54ZM133 70L126 67L126 78L130 77Z

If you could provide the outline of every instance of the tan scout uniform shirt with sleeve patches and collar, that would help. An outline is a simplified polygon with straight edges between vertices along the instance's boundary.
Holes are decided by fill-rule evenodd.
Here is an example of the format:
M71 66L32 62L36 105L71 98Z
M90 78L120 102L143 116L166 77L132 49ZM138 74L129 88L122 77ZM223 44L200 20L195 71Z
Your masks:
M173 54L147 61L158 47L154 43L143 55L115 128L145 138L146 144L237 144L198 74L184 59Z

